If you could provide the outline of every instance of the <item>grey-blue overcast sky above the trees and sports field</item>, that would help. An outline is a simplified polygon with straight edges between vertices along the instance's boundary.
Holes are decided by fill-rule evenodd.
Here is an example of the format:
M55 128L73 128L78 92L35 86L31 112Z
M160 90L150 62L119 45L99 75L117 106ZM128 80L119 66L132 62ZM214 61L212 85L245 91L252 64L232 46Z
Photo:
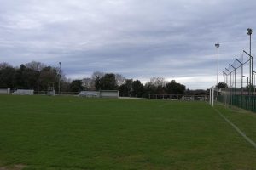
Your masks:
M217 81L214 44L221 73L248 50L255 8L253 0L0 0L0 62L61 62L73 79L103 71L209 88Z

